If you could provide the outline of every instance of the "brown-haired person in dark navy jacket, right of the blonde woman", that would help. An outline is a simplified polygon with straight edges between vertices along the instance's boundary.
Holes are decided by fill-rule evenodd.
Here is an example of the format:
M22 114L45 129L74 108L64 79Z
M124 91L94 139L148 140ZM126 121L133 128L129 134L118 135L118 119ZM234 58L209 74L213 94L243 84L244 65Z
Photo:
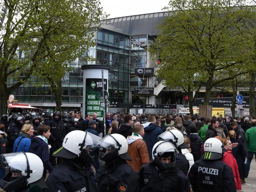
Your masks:
M32 152L40 157L43 163L43 178L46 176L46 170L51 172L53 166L49 161L49 145L48 138L50 137L50 126L42 124L37 128L37 136L32 137L29 152Z

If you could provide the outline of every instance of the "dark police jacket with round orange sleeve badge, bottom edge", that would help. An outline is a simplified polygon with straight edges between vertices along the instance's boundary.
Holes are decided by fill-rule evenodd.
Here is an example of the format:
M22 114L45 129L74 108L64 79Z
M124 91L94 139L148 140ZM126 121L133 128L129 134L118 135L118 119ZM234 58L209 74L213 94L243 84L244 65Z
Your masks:
M98 192L105 191L137 191L138 175L126 163L125 160L117 157L108 164L99 167L96 172Z

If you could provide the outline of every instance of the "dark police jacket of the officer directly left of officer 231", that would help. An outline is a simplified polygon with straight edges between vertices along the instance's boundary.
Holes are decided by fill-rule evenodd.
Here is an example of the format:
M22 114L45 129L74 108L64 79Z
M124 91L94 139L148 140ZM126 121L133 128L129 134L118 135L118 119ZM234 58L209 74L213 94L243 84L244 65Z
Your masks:
M139 170L139 191L188 192L189 179L178 168L160 171L154 161L150 161Z

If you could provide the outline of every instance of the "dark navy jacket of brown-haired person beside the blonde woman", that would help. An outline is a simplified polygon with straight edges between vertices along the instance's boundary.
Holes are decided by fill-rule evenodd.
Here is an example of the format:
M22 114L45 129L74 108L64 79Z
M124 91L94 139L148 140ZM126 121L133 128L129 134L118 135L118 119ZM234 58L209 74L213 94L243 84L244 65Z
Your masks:
M53 170L53 167L49 161L49 146L42 138L38 136L32 137L29 152L32 152L40 157L45 169L47 169L49 172Z

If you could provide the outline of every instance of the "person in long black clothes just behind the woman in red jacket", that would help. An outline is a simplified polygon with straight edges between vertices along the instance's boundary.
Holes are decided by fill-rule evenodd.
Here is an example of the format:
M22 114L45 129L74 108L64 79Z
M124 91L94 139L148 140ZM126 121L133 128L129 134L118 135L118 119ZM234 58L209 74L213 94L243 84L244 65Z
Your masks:
M232 153L233 153L234 158L236 159L236 162L238 165L241 183L244 184L245 183L244 178L248 175L248 171L247 171L246 165L244 163L245 157L246 157L246 150L245 150L245 147L242 144L241 140L235 138L236 134L235 134L234 130L229 130L228 133L229 133L230 141L233 146ZM234 144L237 144L237 146L234 147Z

